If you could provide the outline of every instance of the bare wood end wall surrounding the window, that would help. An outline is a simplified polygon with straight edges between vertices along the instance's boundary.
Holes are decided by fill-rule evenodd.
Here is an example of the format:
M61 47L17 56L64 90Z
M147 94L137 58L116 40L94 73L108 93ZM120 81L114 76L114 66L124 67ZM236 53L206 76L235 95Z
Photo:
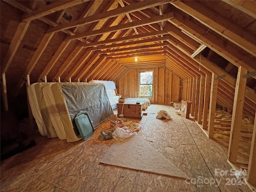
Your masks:
M139 73L146 71L153 72L153 96L147 97L151 103L170 104L181 99L180 78L165 67L130 69L116 81L118 94L122 97L139 98Z

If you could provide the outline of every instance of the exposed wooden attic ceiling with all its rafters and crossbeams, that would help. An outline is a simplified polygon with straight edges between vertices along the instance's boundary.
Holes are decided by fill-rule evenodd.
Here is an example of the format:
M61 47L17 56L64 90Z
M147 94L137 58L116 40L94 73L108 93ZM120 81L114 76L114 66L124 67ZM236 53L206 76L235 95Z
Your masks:
M164 66L182 80L214 73L217 101L232 108L242 66L248 71L244 111L255 114L255 1L0 4L1 74L12 96L24 90L27 75L31 82L118 81L132 68Z

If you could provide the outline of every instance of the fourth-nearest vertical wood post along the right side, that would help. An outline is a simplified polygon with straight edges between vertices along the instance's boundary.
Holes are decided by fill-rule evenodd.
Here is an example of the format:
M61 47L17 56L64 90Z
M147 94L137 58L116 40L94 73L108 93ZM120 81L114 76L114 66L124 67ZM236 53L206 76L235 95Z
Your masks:
M203 114L203 129L207 129L207 116L210 99L210 76L206 74L205 78L205 89L204 89L204 114Z

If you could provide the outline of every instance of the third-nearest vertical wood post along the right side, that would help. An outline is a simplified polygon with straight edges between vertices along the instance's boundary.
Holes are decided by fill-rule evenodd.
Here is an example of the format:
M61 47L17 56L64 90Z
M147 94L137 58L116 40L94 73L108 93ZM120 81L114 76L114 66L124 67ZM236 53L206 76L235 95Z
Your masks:
M209 109L209 122L208 122L208 137L213 138L214 134L214 118L217 100L217 88L218 79L215 73L212 73L212 85L211 85L211 95L210 95L210 109Z

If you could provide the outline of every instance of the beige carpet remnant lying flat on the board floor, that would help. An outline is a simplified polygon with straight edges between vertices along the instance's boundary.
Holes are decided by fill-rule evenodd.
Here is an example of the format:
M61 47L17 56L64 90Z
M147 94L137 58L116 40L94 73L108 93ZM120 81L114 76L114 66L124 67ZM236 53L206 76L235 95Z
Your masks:
M114 141L100 162L172 177L188 178L184 172L140 136L132 136L132 138L123 141Z

